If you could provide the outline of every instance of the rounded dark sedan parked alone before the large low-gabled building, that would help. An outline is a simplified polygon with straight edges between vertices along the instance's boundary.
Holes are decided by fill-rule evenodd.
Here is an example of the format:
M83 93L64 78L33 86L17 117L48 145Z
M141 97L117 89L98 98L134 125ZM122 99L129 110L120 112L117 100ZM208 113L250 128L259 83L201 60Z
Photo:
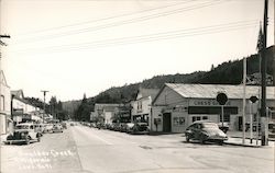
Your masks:
M185 131L186 141L190 139L199 140L201 143L205 141L215 141L220 145L228 139L228 136L219 128L219 126L209 120L194 122Z

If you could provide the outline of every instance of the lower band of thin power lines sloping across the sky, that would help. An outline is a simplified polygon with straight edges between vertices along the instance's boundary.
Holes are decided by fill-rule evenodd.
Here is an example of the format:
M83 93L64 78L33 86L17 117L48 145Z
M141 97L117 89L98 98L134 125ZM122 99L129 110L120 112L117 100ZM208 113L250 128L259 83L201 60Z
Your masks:
M51 50L52 53L53 51L58 53L58 51L64 51L64 50L78 50L78 49L87 49L87 48L96 48L96 47L107 47L107 46L112 46L112 45L118 46L118 45L124 45L124 44L138 44L138 43L144 43L144 42L180 38L180 37L197 36L197 35L204 35L204 34L216 34L216 33L221 33L221 32L229 32L229 31L235 31L235 30L243 30L248 27L254 27L256 25L257 25L257 21L242 21L242 22L234 22L234 23L228 23L228 24L210 25L210 26L205 26L205 27L195 27L195 28L178 30L178 31L172 31L172 32L165 32L165 33L156 33L156 34L150 34L150 35L103 39L103 41L89 42L89 43L82 43L82 44L51 46L51 47L29 49L29 50L32 50L32 51ZM19 50L18 53L24 54L24 53L28 53L28 49Z

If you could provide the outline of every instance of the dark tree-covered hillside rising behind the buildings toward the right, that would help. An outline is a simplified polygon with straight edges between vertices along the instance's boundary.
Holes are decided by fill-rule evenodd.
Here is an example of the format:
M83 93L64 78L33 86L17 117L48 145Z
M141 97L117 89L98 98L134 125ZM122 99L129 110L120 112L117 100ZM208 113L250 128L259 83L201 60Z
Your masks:
M267 48L267 73L274 78L274 46ZM258 55L251 55L248 58L248 74L258 72L260 60ZM86 119L89 115L81 115L81 109L88 114L87 109L94 109L95 103L127 103L134 100L139 88L160 89L164 83L212 83L212 84L240 84L243 76L243 58L234 61L227 61L217 67L212 67L209 71L196 71L187 74L166 74L156 76L142 82L132 83L123 86L110 88L95 97L84 99L82 101L64 102L63 106L72 115L78 115ZM85 103L84 103L85 101ZM85 104L87 107L79 106ZM79 109L80 108L80 109Z

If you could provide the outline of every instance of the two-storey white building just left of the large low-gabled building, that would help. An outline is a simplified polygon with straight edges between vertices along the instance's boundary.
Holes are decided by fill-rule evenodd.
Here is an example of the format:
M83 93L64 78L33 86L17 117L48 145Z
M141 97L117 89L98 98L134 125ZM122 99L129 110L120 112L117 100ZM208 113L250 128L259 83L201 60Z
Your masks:
M131 102L132 105L132 120L133 123L147 123L148 127L152 127L151 120L151 105L152 101L158 93L158 89L143 89L139 90L135 101Z

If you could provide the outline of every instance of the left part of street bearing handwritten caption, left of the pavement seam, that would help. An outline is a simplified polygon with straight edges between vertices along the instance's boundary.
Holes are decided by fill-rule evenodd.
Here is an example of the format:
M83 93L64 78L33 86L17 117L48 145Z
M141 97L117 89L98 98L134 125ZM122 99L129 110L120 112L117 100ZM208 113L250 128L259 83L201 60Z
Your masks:
M45 134L41 142L1 146L1 173L81 172L70 129Z

